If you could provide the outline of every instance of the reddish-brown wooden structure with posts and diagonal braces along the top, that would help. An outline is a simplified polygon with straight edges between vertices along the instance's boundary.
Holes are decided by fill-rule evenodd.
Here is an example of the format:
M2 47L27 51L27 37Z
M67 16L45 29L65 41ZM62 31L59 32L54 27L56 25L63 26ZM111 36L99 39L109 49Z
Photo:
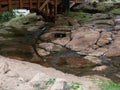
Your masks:
M0 15L3 11L12 9L29 9L42 13L46 17L55 17L58 13L64 12L62 10L65 1L78 3L81 0L0 0Z

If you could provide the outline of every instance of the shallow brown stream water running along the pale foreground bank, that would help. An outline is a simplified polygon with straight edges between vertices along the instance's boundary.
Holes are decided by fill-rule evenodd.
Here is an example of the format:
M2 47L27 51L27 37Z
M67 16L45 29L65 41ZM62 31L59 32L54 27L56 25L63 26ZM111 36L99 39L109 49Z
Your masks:
M112 57L111 63L106 64L108 68L102 71L94 71L93 68L99 65L94 65L84 60L84 56L67 49L49 55L47 61L42 61L33 50L30 42L32 41L30 33L28 36L27 34L18 36L7 36L4 34L4 38L3 35L0 35L0 54L13 59L37 63L45 67L53 67L77 76L100 75L115 82L120 82L120 77L117 76L120 73L120 57Z

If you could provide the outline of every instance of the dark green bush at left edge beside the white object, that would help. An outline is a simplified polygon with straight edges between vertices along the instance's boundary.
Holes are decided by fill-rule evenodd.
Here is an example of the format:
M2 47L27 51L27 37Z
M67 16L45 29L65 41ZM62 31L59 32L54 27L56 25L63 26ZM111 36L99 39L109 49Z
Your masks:
M5 11L0 17L0 22L6 22L15 17L15 13L13 11Z

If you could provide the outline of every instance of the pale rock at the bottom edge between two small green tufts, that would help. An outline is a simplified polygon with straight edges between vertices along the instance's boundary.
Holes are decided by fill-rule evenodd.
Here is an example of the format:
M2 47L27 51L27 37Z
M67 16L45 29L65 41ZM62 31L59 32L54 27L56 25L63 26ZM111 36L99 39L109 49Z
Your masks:
M65 79L57 78L50 90L66 90L66 85L67 81Z

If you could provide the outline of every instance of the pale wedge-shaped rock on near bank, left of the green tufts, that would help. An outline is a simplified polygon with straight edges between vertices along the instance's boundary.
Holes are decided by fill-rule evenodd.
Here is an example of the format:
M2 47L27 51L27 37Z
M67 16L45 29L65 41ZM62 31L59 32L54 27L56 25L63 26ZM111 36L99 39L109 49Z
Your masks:
M37 73L29 82L28 84L34 86L36 84L44 83L47 81L49 77L44 73Z

